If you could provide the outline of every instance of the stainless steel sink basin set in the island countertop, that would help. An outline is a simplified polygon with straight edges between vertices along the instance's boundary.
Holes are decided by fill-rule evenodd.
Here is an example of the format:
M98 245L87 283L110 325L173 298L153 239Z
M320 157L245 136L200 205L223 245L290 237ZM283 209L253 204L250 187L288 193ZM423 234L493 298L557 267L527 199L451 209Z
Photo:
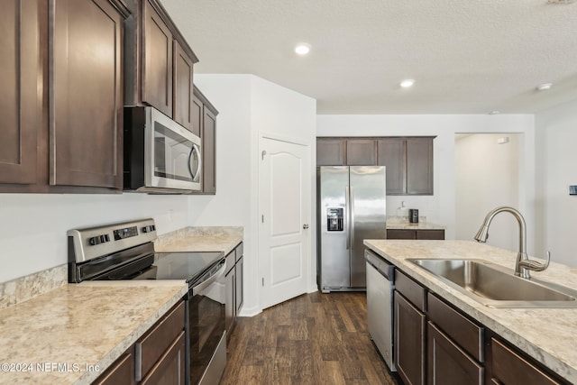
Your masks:
M577 292L519 278L480 259L409 259L446 284L487 307L577 307Z

